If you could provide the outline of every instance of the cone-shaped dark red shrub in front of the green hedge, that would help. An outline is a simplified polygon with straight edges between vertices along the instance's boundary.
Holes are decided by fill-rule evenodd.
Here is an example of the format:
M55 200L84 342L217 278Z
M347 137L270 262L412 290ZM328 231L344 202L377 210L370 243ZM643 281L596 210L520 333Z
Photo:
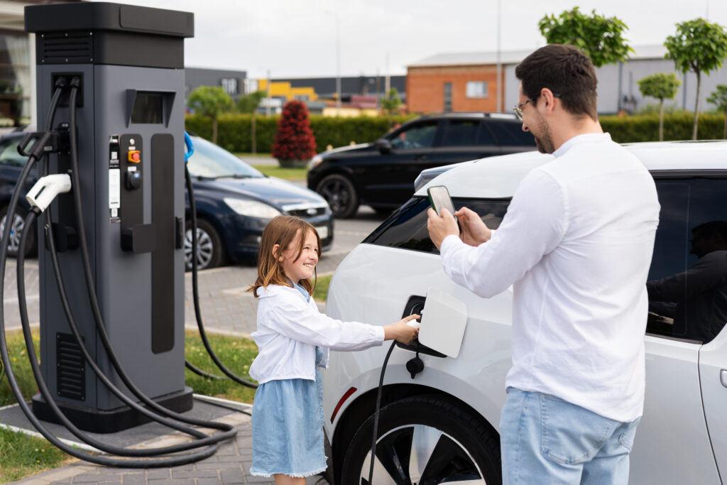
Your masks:
M310 129L308 108L297 100L285 103L273 143L273 156L281 165L305 161L316 154L316 137Z

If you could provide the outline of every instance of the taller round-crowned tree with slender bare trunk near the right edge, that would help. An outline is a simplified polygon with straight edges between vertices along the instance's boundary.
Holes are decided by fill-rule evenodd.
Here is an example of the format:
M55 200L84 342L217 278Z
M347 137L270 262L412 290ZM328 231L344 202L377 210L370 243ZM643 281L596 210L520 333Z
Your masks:
M696 74L694 131L691 136L692 140L696 140L702 73L709 75L710 71L722 67L722 61L727 58L727 32L722 25L708 23L702 18L687 20L677 24L676 35L668 36L664 47L668 51L665 57L673 60L679 71L694 71Z

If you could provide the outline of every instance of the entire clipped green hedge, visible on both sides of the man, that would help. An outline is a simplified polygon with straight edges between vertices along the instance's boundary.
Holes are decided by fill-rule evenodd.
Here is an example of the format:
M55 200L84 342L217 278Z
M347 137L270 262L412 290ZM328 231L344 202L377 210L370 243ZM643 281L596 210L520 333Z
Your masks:
M396 116L402 123L414 116ZM270 153L279 116L255 116L256 151ZM619 143L659 140L659 115L601 116L601 126ZM664 140L691 140L693 116L690 113L664 115ZM212 121L200 115L188 115L187 130L209 140L212 138ZM310 127L316 135L316 151L326 150L328 145L340 147L352 141L366 143L377 140L389 129L385 116L358 116L334 118L310 116ZM723 135L724 117L710 113L699 115L699 140L720 140ZM217 122L217 144L233 152L252 152L252 115L228 114Z

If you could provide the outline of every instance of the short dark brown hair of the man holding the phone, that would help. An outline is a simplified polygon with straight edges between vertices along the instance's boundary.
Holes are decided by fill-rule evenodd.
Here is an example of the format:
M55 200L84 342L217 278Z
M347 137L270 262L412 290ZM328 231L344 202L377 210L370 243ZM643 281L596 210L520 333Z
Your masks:
M515 68L523 83L523 94L537 103L540 90L547 87L560 95L566 111L590 116L598 121L596 111L595 69L580 49L571 45L549 44L537 49Z

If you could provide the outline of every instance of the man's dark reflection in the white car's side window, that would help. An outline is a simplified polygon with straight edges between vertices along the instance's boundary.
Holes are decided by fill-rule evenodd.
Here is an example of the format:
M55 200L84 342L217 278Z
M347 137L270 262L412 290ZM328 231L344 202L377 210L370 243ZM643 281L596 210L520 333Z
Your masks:
M649 310L673 319L672 336L710 342L727 321L727 221L713 220L691 230L686 271L648 281Z

